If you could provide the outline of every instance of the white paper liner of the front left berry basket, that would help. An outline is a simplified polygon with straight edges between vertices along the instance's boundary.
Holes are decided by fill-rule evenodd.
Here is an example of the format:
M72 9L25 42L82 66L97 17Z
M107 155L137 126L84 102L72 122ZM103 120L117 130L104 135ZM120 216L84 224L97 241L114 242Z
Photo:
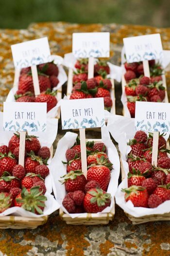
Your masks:
M29 132L29 135L33 134L38 137L41 147L47 146L51 148L52 143L54 142L58 129L58 119L56 118L47 118L47 131L46 133L43 132ZM0 145L8 145L10 138L14 135L14 132L5 132L3 131L3 113L0 112ZM53 159L48 160L48 167L51 168L51 163ZM56 202L55 198L51 195L52 192L52 176L49 174L45 178L45 185L47 192L45 196L47 197L47 201L45 202L46 207L44 208L43 215L36 215L34 213L28 212L20 207L11 207L0 214L1 216L7 215L15 215L15 216L22 216L22 217L42 217L46 215L50 215L54 211L59 208L59 204Z

